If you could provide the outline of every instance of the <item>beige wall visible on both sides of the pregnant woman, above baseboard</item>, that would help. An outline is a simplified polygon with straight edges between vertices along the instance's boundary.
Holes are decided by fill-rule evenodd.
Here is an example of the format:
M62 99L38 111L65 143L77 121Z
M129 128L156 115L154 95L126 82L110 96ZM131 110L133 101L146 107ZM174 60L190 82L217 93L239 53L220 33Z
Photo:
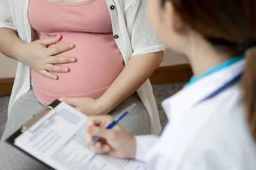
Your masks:
M161 67L168 65L178 65L188 63L186 57L176 54L170 50L165 51ZM9 59L0 53L0 79L15 77L17 69L17 61Z

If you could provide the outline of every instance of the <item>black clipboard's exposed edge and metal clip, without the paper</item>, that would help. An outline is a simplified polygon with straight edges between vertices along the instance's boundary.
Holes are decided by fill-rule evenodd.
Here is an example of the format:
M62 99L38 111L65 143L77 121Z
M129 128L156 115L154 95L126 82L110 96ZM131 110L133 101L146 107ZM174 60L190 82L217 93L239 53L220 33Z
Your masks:
M36 113L31 119L29 119L27 122L25 122L19 130L17 130L15 133L12 134L12 136L10 136L8 139L6 139L6 142L8 142L9 144L11 144L12 146L14 146L15 148L17 148L18 150L20 150L21 152L25 153L26 155L28 155L30 158L34 159L35 161L40 162L41 164L43 164L45 167L48 167L51 170L55 170L54 168L50 167L49 165L45 164L43 161L40 161L39 159L36 159L34 156L30 155L29 153L27 153L26 151L24 151L23 149L21 149L20 147L17 147L14 143L15 143L15 139L20 136L24 131L28 130L29 127L32 127L32 125L34 125L38 120L40 120L42 117L44 117L47 113L49 113L49 111L54 111L54 114L56 114L55 111L55 107L57 105L59 105L61 102L59 100L55 100L54 102L52 102L50 105L48 105L47 107L45 107L43 110L39 111L38 113ZM52 117L52 116L51 116ZM50 117L50 118L51 118ZM43 122L44 123L44 122ZM40 126L39 126L40 127ZM38 128L39 128L38 127ZM37 129L38 129L37 128ZM36 130L37 130L36 129ZM36 131L35 130L35 131Z

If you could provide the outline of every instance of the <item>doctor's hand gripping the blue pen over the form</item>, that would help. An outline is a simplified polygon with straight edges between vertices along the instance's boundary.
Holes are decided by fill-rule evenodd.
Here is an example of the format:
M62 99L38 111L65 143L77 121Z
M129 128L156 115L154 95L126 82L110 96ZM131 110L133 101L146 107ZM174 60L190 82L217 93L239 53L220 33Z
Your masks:
M113 117L90 116L87 120L85 137L88 143L94 136L101 139L92 146L96 153L108 153L116 158L131 158L136 155L136 139L128 134L120 125L115 125L112 129L106 129L113 122Z

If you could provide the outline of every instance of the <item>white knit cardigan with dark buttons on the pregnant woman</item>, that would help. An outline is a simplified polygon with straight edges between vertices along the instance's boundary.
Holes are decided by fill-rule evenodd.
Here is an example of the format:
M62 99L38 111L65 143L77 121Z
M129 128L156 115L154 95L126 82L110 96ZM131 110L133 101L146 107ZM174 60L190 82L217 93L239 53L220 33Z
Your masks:
M148 17L147 0L106 0L111 14L113 34L119 35L116 44L125 63L134 56L164 51L165 46L157 38ZM115 6L110 9L110 6ZM29 43L35 35L28 19L29 0L1 0L0 28L10 28L18 32L23 42ZM30 88L30 68L18 63L17 74L9 102L8 114L14 102ZM147 80L138 90L138 95L148 111L150 133L160 132L160 120L151 83ZM138 113L139 114L139 113Z

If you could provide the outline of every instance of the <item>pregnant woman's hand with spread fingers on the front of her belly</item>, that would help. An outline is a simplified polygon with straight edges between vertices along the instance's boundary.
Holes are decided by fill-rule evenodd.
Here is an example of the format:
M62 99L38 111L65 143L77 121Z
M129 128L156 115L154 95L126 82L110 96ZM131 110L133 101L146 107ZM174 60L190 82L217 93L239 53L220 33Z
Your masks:
M74 57L57 57L56 54L68 51L74 48L73 44L59 45L47 48L61 40L61 35L44 38L20 46L20 61L28 65L37 73L50 79L58 79L57 75L51 72L68 72L69 68L57 66L55 64L64 64L76 62Z

